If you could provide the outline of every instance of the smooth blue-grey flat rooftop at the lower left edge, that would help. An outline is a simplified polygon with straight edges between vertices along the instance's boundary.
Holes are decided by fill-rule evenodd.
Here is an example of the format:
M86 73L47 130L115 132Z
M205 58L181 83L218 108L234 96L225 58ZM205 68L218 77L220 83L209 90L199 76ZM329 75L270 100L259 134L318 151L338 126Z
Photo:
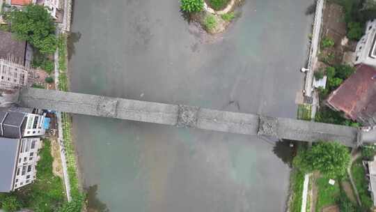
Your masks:
M19 139L0 137L0 192L12 190Z

